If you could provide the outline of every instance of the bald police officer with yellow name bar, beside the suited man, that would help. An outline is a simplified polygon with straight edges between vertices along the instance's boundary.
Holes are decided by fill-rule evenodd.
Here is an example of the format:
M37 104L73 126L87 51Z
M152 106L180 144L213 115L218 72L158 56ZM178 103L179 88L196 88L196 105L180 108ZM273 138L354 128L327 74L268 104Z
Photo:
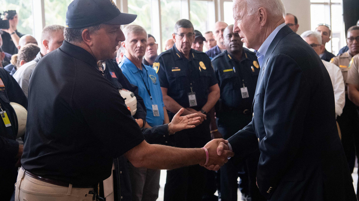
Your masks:
M216 123L224 139L247 126L252 120L251 107L256 90L260 68L254 53L243 48L238 34L233 33L233 25L224 30L226 50L212 59L212 65L218 79L220 99L216 105ZM256 186L256 170L259 151L238 167L227 163L221 168L222 201L237 200L238 168L244 171L240 175L243 198L252 201L265 200Z

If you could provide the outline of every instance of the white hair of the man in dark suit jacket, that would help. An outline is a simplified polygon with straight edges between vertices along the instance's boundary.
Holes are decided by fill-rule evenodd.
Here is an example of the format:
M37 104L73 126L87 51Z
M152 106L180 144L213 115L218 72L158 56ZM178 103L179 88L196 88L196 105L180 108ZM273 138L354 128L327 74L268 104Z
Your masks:
M274 16L285 16L285 8L281 0L246 0L247 14L255 14L259 8L263 7Z

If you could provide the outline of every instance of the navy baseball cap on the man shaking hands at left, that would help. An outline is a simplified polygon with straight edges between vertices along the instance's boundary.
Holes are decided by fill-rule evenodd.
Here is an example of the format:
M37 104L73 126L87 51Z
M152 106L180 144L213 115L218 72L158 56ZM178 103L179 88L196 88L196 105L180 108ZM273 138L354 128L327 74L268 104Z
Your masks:
M67 7L66 27L78 29L97 24L130 24L136 17L121 13L113 0L74 0Z

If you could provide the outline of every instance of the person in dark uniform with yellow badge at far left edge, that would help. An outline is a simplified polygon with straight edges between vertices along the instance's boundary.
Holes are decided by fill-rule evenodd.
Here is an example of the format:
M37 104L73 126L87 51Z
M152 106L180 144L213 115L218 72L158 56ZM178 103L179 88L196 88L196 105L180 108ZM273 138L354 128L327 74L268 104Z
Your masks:
M27 98L16 80L0 68L0 192L1 200L10 200L18 174L15 164L22 155L22 145L16 141L17 119L10 102L27 109Z

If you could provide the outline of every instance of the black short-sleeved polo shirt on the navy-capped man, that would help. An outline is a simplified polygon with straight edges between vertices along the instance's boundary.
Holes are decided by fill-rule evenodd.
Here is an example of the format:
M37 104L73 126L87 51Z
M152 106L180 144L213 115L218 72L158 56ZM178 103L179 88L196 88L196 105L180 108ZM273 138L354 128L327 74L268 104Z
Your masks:
M24 169L73 185L108 178L113 158L144 140L94 57L67 41L32 72L28 116Z

